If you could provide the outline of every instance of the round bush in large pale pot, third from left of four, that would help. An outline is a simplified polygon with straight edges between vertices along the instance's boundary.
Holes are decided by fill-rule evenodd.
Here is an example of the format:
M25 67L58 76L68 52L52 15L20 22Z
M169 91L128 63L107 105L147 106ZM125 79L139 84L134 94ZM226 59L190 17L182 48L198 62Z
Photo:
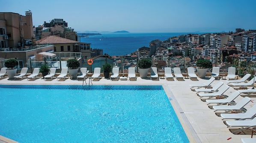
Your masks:
M138 67L141 78L146 78L148 76L149 68L152 65L152 61L148 58L143 58L139 60Z

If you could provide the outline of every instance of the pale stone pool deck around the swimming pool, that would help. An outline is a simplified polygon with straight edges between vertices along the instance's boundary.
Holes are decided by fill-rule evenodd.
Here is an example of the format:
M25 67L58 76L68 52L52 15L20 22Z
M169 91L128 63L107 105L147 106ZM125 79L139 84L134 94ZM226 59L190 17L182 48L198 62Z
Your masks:
M250 138L250 134L232 134L229 128L223 123L221 117L218 117L213 109L208 108L207 103L200 100L196 92L191 91L190 84L205 83L206 79L197 78L197 80L174 80L169 81L163 78L159 80L150 80L150 77L142 79L137 77L136 81L131 80L110 80L102 77L100 80L93 80L93 85L162 85L167 93L173 108L182 123L188 139L191 143L241 143L241 138ZM211 84L216 85L222 81L224 85L226 80L214 80ZM89 78L86 79L86 86L89 86ZM8 77L0 78L0 84L22 84L22 85L83 85L83 80L65 78L58 80L54 77L52 80L43 80L37 77L36 80L27 80L24 77L20 79L8 79ZM85 83L84 83L85 84ZM90 86L93 86L90 83ZM235 89L230 87L225 95L230 95ZM238 96L235 101L239 102L243 97ZM255 97L251 97L245 109L250 109L255 104ZM256 135L255 135L256 136ZM0 136L0 143L16 143L13 140Z

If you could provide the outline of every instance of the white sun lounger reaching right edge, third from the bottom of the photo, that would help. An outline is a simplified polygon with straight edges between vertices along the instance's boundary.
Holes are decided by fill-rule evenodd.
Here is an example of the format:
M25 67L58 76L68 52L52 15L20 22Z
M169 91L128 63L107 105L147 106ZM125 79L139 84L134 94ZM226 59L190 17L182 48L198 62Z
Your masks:
M247 110L247 112L244 113L225 113L225 114L220 114L220 117L223 117L222 120L226 120L226 119L239 119L239 120L244 120L244 119L253 119L255 117L256 114L256 104L250 108L249 110Z

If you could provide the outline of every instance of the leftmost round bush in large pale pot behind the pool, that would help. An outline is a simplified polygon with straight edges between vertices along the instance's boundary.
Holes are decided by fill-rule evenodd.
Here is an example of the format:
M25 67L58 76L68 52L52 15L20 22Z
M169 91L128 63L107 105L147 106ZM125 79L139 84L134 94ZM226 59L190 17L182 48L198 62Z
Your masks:
M14 76L17 74L17 68L15 66L18 66L18 61L15 59L9 59L4 62L4 66L8 69L6 69L7 75L10 79L14 78Z

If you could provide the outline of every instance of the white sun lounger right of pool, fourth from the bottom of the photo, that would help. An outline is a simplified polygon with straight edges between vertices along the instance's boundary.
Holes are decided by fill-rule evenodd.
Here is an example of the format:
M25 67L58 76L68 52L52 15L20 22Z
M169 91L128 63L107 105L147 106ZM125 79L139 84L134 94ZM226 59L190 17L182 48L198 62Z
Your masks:
M219 110L225 110L226 112L229 112L233 109L242 109L247 103L250 102L250 98L249 97L244 97L240 102L238 102L237 104L235 105L229 105L229 106L212 106L212 108L215 110L214 112L216 111L219 111Z

